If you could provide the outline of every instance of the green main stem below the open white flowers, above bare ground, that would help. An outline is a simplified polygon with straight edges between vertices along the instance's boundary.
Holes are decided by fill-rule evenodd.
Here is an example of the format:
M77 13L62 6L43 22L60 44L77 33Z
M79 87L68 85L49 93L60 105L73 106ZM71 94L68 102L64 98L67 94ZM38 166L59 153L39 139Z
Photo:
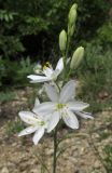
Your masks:
M55 128L54 131L54 156L53 156L53 173L56 173L56 164L57 164L57 127Z

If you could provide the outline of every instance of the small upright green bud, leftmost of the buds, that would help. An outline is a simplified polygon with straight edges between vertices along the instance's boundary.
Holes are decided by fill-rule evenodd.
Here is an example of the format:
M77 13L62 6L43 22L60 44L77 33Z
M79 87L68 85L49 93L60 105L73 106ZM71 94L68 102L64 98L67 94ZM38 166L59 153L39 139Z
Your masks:
M59 35L59 48L60 51L65 51L66 50L66 44L67 44L67 34L65 30L61 30L60 35Z

